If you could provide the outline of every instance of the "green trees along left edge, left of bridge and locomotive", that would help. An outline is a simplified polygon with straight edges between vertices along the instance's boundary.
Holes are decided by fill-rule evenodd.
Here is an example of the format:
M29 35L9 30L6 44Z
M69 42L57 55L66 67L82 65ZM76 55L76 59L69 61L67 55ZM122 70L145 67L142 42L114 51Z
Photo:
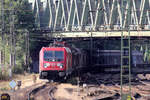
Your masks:
M11 66L14 73L23 73L26 69L25 55L26 55L26 38L24 30L27 29L31 31L35 28L35 18L31 9L31 5L28 0L4 0L4 40L2 41L2 36L0 36L0 50L5 51L5 65L4 69L0 69L0 79L8 77L8 66L10 65L10 48L11 48L11 33L10 25L12 21L10 18L14 17L14 33L15 33L15 59L16 65ZM12 10L14 9L14 12ZM12 13L12 14L11 14ZM0 13L1 14L1 13ZM1 19L0 19L1 21ZM30 34L32 34L30 32ZM14 50L13 49L13 50Z

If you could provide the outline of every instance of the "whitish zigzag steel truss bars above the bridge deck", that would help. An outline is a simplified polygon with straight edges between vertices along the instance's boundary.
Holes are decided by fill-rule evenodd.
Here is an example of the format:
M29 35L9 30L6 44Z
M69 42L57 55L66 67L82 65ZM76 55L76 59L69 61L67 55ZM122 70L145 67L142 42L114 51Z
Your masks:
M105 30L117 30L118 25L127 27L145 27L150 25L150 0L131 0L131 11L128 12L128 3L124 0L29 0L33 3L36 24L50 27L53 31L86 31L85 27L96 29L106 27ZM43 4L43 7L41 3ZM46 6L45 6L46 5ZM122 12L121 9L124 9ZM43 9L43 10L42 10ZM42 14L45 16L41 16ZM131 22L128 22L128 16ZM47 18L46 18L47 17ZM45 21L45 18L47 21ZM123 20L123 22L122 22ZM74 30L74 27L78 27ZM64 28L65 30L62 30ZM144 28L142 28L144 29ZM147 30L147 29L146 29ZM148 29L150 30L150 29ZM97 30L94 30L97 31Z

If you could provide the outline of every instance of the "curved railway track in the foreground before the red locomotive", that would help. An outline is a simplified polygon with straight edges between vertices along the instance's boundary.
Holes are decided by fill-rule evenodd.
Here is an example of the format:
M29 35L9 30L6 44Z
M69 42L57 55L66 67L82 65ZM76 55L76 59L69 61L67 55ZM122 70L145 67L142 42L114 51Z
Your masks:
M28 93L28 100L55 100L54 92L58 83L46 83L31 90Z

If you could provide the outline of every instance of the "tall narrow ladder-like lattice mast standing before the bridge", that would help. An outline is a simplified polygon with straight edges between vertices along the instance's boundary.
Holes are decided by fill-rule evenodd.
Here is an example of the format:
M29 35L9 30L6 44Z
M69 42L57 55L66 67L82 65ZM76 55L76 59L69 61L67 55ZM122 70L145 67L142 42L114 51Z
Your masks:
M128 9L123 6L128 5ZM130 66L130 0L122 0L122 13L126 12L124 20L127 21L128 33L123 33L123 16L122 16L122 33L121 33L121 100L131 100L131 66Z

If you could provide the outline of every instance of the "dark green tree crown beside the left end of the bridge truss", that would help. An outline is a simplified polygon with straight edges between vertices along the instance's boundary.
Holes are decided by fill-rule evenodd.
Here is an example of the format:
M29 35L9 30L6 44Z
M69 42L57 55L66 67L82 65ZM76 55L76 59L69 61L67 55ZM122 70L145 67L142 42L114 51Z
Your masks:
M35 28L35 18L33 11L31 9L31 5L28 3L28 0L20 0L19 3L15 7L15 9L19 9L16 12L17 15L17 28L28 29L29 31Z

